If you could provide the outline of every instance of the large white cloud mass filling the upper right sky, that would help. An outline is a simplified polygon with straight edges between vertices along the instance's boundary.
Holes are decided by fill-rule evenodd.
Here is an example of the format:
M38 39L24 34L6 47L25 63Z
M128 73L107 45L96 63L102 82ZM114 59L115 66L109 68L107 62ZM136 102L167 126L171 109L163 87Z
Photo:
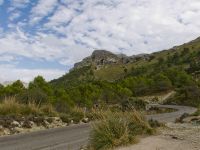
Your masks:
M44 27L88 49L123 49L132 55L170 48L200 35L198 0L62 2L66 8L58 9ZM74 8L81 13L74 13Z

